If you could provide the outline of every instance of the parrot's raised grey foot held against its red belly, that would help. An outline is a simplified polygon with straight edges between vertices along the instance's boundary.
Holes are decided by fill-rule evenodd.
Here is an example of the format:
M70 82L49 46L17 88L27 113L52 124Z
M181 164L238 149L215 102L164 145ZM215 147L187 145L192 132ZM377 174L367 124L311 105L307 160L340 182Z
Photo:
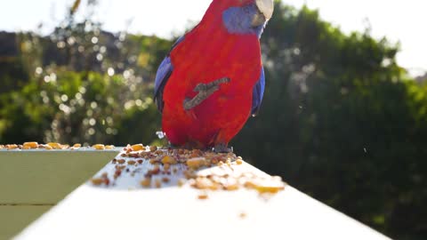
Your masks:
M198 92L197 95L191 100L184 100L184 109L189 110L191 108L195 108L205 99L209 98L209 96L214 94L214 92L218 91L220 89L220 84L227 83L230 83L229 77L222 77L209 84L197 84L194 88L194 92Z

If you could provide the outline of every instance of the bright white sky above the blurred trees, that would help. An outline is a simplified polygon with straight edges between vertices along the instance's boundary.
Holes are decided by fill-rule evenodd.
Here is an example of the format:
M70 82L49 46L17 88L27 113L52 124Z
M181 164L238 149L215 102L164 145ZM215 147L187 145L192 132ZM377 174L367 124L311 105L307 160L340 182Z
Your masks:
M43 32L52 29L55 20L61 20L65 6L73 0L13 0L0 9L0 30L31 30L43 22ZM85 2L85 0L83 1ZM200 20L211 0L99 0L96 18L109 31L124 30L132 20L129 31L141 34L171 36L189 26L189 20ZM363 30L366 19L372 33L387 36L401 43L399 64L413 75L427 70L425 0L284 0L286 4L301 7L306 3L318 8L321 17L349 33ZM7 5L7 7L4 7ZM273 16L274 17L274 16Z

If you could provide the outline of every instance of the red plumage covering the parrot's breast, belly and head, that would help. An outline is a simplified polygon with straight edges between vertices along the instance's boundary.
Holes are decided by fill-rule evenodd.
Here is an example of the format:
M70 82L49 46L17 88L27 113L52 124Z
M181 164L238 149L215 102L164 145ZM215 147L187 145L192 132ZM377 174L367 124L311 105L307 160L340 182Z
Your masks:
M239 0L214 0L203 20L171 52L173 74L165 84L162 126L174 145L205 148L228 144L250 116L254 84L261 74L260 42L255 35L235 35L222 24L222 11ZM194 88L229 77L189 111L183 102Z

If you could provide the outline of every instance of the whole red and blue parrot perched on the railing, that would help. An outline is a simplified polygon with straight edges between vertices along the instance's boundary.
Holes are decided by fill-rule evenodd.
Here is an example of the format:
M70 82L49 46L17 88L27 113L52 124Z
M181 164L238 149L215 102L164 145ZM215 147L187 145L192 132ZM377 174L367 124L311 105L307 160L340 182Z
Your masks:
M273 0L214 0L157 69L155 100L173 146L228 152L264 94L260 37Z

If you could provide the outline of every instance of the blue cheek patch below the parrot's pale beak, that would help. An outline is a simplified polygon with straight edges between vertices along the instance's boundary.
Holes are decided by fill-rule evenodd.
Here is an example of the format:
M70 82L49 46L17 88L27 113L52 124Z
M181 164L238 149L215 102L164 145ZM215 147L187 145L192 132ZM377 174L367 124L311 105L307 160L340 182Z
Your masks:
M230 34L250 34L261 38L265 24L252 27L252 19L257 10L253 4L243 7L230 7L222 13L222 23Z

